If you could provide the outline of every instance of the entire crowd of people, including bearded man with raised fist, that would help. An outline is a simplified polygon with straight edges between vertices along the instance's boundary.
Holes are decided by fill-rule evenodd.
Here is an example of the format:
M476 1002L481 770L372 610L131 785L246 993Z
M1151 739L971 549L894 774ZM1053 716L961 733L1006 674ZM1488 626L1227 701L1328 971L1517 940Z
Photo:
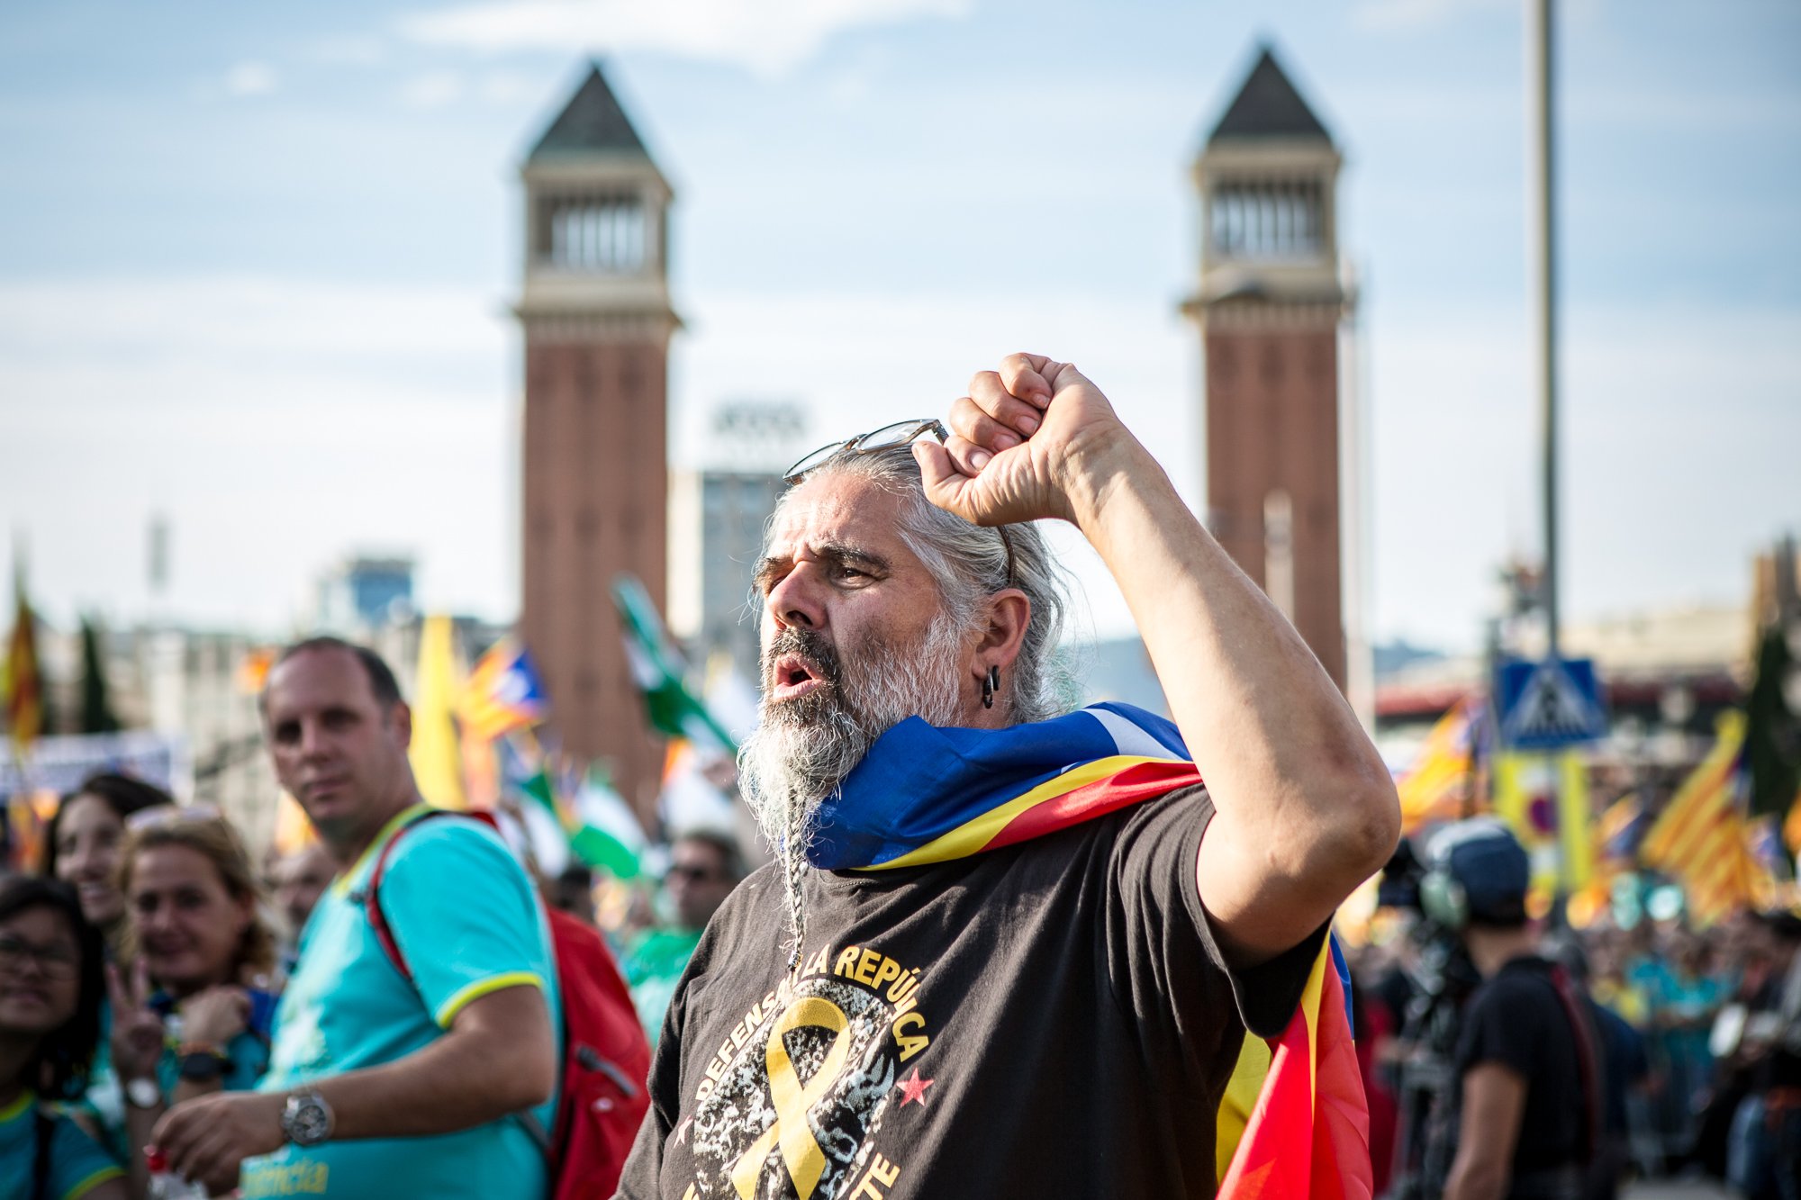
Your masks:
M1457 825L1344 1004L1392 778L1073 366L789 483L738 760L774 861L677 836L609 946L585 870L421 802L376 654L297 641L259 705L312 849L97 777L0 881L0 1200L1801 1195L1801 919L1549 937ZM1050 519L1174 721L1070 712Z

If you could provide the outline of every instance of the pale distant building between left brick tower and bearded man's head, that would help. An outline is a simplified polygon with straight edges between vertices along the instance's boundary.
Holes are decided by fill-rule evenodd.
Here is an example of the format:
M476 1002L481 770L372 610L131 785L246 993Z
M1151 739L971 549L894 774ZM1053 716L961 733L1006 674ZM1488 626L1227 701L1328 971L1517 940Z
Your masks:
M807 445L798 404L740 400L713 413L701 470L679 472L670 497L670 627L697 659L715 654L756 677L758 613L751 577L764 526L787 486L782 472Z

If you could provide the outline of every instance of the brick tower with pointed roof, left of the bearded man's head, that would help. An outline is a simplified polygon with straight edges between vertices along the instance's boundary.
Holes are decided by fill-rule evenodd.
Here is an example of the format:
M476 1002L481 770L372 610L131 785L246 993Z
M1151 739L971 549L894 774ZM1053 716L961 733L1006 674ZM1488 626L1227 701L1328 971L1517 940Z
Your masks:
M609 587L666 591L668 180L594 65L526 186L520 636L566 750L605 759L639 814L661 762Z

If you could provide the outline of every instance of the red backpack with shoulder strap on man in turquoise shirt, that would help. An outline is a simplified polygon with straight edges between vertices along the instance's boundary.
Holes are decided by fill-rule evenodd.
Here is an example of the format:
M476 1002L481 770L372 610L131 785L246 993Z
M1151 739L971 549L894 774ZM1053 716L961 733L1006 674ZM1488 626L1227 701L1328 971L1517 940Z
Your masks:
M409 984L412 971L382 915L380 886L387 856L400 836L434 816L466 816L493 827L493 818L486 813L420 813L387 840L369 868L369 883L364 886L369 928ZM632 993L600 933L557 908L548 908L546 915L562 995L564 1061L558 1072L557 1124L546 1133L531 1112L517 1112L513 1119L544 1151L551 1200L605 1200L620 1186L625 1155L650 1108L645 1083L650 1076L650 1043L638 1023Z

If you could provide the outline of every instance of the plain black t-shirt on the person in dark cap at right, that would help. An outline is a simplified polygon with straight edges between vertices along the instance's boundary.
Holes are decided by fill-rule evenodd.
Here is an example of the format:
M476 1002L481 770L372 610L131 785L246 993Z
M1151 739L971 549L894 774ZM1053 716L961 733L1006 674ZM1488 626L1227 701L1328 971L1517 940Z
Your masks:
M1470 996L1457 1036L1457 1090L1480 1063L1502 1063L1525 1079L1525 1112L1513 1146L1513 1175L1579 1166L1588 1128L1587 1095L1569 1009L1551 982L1552 964L1513 959ZM1599 1052L1590 1031L1588 1045ZM1452 1126L1455 1128L1455 1126Z

